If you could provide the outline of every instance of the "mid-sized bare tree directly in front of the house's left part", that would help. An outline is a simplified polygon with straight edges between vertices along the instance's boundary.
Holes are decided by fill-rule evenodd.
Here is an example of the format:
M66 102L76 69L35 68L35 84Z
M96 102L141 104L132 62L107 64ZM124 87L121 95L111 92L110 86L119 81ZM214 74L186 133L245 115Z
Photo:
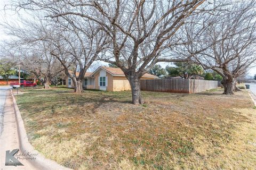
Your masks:
M45 40L51 41L53 44L51 54L54 55L61 62L65 68L66 75L73 80L75 92L83 92L83 78L92 63L98 60L100 55L103 55L105 49L108 47L109 40L105 32L93 26L93 23L87 23L87 27L81 28L80 24L70 22L71 28L63 26L67 30L48 34ZM77 22L77 21L76 21ZM86 24L83 22L83 24ZM64 55L64 56L63 56ZM73 72L69 71L66 57L71 58L73 65ZM76 71L79 71L78 76Z

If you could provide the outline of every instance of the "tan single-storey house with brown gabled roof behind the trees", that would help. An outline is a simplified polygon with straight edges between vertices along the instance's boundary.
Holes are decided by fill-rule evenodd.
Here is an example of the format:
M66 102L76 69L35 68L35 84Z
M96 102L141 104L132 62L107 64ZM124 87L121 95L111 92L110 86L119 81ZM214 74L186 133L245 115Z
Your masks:
M76 73L79 74L78 72ZM152 74L144 74L143 79L157 79ZM66 87L74 88L72 79L65 77ZM98 89L107 91L131 90L129 81L126 79L123 71L119 68L100 66L93 73L87 72L83 80L83 87L86 89Z

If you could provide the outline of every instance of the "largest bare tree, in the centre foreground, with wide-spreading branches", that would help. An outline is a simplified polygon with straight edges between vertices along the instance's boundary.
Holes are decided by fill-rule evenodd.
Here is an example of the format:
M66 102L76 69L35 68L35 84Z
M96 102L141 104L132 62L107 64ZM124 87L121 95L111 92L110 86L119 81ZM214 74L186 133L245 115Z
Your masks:
M44 9L55 19L79 16L97 23L111 38L112 45L109 57L101 60L122 69L131 85L133 104L142 104L140 78L143 74L158 62L188 61L190 55L179 58L169 53L179 40L180 27L204 2L22 0L18 6Z

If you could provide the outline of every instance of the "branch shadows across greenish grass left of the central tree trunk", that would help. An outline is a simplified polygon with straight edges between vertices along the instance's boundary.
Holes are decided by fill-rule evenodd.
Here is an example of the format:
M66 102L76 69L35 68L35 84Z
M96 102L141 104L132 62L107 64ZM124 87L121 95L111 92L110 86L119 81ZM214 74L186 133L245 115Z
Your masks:
M86 105L93 106L90 110L95 113L99 107L106 103L131 104L131 100L127 92L115 94L95 90L86 90L82 94L75 94L72 90L34 89L17 96L17 104L20 110L28 113L28 116L36 116L37 113L54 114L57 113L57 110L65 112L68 107L82 108Z

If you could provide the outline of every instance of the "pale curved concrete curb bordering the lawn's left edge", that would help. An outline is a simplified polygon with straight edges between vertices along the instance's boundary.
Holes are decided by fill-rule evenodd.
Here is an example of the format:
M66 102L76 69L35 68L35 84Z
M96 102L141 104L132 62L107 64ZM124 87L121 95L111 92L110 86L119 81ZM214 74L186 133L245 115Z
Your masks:
M36 160L30 160L31 165L33 165L35 168L38 169L44 169L44 170L57 170L57 169L63 169L63 170L71 170L69 168L63 167L59 165L58 163L54 162L53 160L47 159L44 156L42 156L37 150L34 149L34 147L29 143L27 133L25 130L25 126L20 114L19 107L17 105L16 99L13 95L13 92L11 90L11 95L13 99L13 107L15 112L15 119L17 123L17 131L18 131L18 138L19 138L19 146L22 151L29 151L33 154L38 154L36 156Z

